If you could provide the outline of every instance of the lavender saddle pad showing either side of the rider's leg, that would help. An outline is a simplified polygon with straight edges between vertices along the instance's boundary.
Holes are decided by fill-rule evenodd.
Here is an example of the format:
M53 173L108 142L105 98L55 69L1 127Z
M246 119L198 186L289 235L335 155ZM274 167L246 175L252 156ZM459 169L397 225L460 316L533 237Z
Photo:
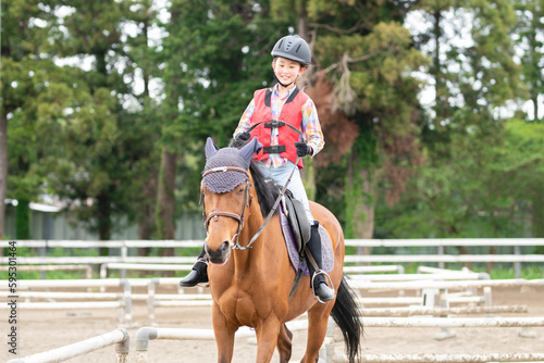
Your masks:
M295 271L298 268L302 270L304 275L309 276L310 273L307 266L302 266L299 263L300 256L298 254L297 241L290 230L289 221L283 213L283 209L279 208L280 211L280 223L282 225L283 236L285 237L285 245L287 246L287 252L289 254L290 263ZM334 253L331 240L329 239L329 234L322 225L319 225L319 235L321 237L321 255L322 255L322 266L324 272L330 273L334 267Z

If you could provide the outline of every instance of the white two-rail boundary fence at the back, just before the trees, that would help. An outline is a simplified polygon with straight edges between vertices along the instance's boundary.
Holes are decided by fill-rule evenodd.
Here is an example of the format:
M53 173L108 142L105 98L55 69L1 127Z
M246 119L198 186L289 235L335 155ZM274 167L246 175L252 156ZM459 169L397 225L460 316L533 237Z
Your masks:
M116 264L116 263L158 263L158 264L193 264L195 256L131 256L128 249L138 248L200 248L201 240L17 240L20 248L38 248L40 256L18 256L17 264ZM544 246L544 238L477 238L477 239L346 239L350 247L435 247L435 254L370 254L346 255L345 262L361 263L437 263L444 267L446 263L512 263L517 278L521 277L521 263L544 263L544 254L521 254L521 247ZM503 246L512 247L511 254L446 254L446 247ZM108 256L46 256L48 248L110 248L120 249L120 255ZM1 264L8 264L9 258L0 258ZM134 266L133 266L134 267ZM346 266L356 268L358 266ZM181 268L181 267L177 267ZM175 270L177 270L175 268ZM186 268L183 266L183 268ZM174 268L172 268L174 270ZM122 270L123 276L125 271Z

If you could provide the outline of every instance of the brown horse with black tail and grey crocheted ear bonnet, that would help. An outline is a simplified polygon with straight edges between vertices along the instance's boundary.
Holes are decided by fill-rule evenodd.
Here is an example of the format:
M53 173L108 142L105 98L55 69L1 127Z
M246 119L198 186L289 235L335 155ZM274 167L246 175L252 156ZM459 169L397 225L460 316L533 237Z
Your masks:
M218 151L221 153L226 149L232 151L234 148L219 150L209 138L208 161ZM254 139L239 152L249 162L258 149L259 143ZM288 362L292 355L293 334L285 323L305 312L308 312L308 341L300 362L318 361L330 315L344 335L349 362L355 362L359 355L362 325L357 315L353 291L348 288L342 272L344 234L338 221L325 208L311 202L313 216L326 229L332 242L334 268L330 277L333 286L337 287L336 299L319 303L313 297L309 277L304 276L289 300L296 272L287 255L277 212L255 243L244 249L263 225L280 193L279 188L272 183L267 183L252 162L249 172L236 166L239 162L224 163L226 154L228 153L224 153L223 161L220 162L224 165L217 167L215 163L211 165L213 167L207 166L208 171L205 168L201 184L218 362L232 361L235 331L244 325L256 330L257 362L270 362L275 347L280 353L280 362ZM205 179L210 173L218 174L214 175L214 188L221 183L236 185L219 186L221 190L228 191L212 192L206 187ZM237 174L234 178L223 177L227 173ZM240 177L244 179L242 183L239 183Z

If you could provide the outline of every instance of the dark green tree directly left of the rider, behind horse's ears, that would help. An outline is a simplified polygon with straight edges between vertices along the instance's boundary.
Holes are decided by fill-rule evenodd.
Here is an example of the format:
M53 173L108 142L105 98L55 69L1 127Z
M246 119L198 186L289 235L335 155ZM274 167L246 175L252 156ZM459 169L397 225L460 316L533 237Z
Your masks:
M159 235L173 236L175 190L182 205L195 205L202 146L214 136L226 146L255 89L271 78L269 49L279 30L269 5L246 1L173 1L164 24L161 64L162 162L157 205ZM195 168L185 167L196 153ZM176 166L182 173L178 176ZM175 178L178 176L178 183ZM191 200L187 200L190 198Z

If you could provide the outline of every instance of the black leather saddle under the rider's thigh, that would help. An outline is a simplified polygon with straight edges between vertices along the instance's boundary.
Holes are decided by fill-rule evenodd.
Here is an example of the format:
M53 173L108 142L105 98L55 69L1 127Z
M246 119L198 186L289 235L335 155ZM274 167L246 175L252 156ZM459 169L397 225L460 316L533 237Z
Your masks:
M290 229L297 243L297 251L302 253L306 243L310 240L311 230L306 209L299 200L293 197L290 190L285 190L283 198L283 213L287 217Z

